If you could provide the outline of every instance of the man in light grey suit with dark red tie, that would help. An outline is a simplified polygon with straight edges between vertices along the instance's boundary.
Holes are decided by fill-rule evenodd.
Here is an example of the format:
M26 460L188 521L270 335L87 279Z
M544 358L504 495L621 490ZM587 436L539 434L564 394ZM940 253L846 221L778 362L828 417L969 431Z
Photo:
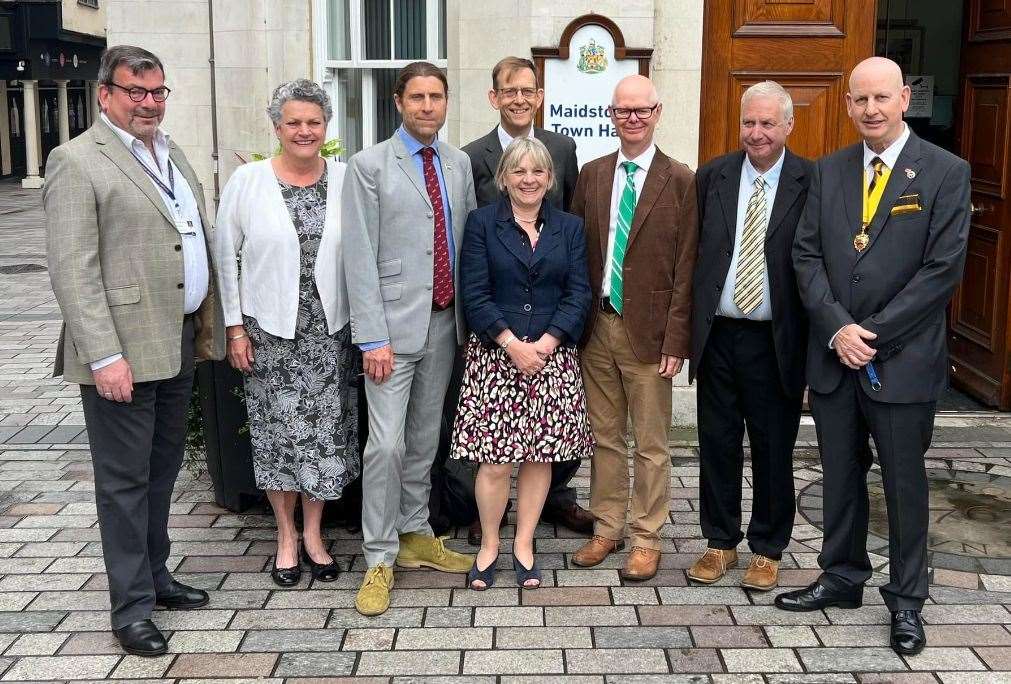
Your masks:
M363 455L362 549L368 572L355 607L389 607L394 561L465 573L429 524L429 472L439 418L463 341L456 264L474 208L470 162L438 139L446 76L427 62L402 70L393 100L403 125L351 158L342 206L352 339L363 352L369 437Z

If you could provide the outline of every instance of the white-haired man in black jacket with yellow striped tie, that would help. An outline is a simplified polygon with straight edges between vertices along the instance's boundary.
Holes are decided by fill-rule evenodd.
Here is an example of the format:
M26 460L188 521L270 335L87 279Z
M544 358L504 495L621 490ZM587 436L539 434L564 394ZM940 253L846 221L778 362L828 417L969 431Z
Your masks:
M776 585L794 529L794 443L804 398L807 315L791 251L811 163L790 152L790 94L772 81L741 98L741 151L696 177L699 261L690 379L699 379L700 518L708 549L688 570L712 584L737 565L744 429L751 451L751 562L741 584Z

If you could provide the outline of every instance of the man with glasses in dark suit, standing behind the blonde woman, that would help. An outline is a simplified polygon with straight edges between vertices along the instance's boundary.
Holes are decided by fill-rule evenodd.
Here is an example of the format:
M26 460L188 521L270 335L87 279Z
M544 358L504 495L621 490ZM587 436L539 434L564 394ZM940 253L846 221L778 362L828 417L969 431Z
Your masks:
M568 211L572 192L575 190L575 180L579 175L575 141L568 135L553 133L534 125L534 116L544 101L544 89L537 81L537 68L534 63L519 57L499 60L491 70L488 101L498 111L498 125L487 135L463 148L470 158L470 168L474 174L477 206L497 202L502 196L501 191L495 186L498 160L501 159L502 151L515 138L529 136L536 137L544 143L551 154L551 161L555 167L555 178L558 180L545 196L545 201L562 211ZM462 360L457 360L457 367L446 398L449 427L453 426L453 417L456 415L456 399L460 393L460 377L463 374ZM593 531L593 516L576 503L575 490L568 484L578 470L579 461L565 461L552 465L551 489L548 491L541 518L546 522L561 524L573 531L590 534ZM456 488L468 492L470 498L473 498L473 475L466 464L453 464L452 470L448 470L447 474L456 479L466 477L467 481L458 482ZM476 504L474 507L476 509ZM467 541L474 546L481 545L479 520L475 519L470 525Z

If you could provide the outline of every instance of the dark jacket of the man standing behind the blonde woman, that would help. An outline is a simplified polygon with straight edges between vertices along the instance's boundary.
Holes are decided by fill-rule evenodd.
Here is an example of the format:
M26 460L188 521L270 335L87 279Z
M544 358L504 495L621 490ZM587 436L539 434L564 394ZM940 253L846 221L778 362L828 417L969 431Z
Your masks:
M537 127L534 128L534 137L543 142L551 153L551 161L555 167L555 187L545 199L556 209L568 211L572 203L572 192L575 190L575 179L579 175L579 165L575 159L575 141L568 135ZM470 157L471 170L474 172L477 206L494 204L501 197L501 192L495 187L495 169L502 157L502 145L498 141L498 126L492 128L487 135L464 146L463 151Z

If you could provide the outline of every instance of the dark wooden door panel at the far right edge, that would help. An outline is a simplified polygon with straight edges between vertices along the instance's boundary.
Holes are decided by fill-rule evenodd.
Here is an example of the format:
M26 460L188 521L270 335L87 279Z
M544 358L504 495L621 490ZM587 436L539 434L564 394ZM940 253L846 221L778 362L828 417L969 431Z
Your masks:
M967 0L959 149L972 167L973 217L949 315L952 383L1011 409L1011 3Z

